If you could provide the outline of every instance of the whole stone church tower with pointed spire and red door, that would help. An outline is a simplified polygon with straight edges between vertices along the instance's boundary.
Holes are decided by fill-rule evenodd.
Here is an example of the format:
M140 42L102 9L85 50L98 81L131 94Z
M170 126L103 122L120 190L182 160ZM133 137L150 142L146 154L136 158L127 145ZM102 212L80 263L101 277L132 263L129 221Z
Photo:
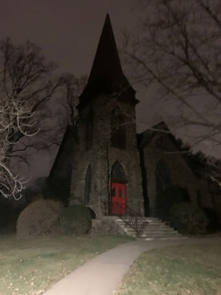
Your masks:
M107 14L88 83L79 97L79 146L72 159L70 204L97 217L114 204L144 212L136 139L135 90L123 74ZM110 207L110 204L111 207Z

